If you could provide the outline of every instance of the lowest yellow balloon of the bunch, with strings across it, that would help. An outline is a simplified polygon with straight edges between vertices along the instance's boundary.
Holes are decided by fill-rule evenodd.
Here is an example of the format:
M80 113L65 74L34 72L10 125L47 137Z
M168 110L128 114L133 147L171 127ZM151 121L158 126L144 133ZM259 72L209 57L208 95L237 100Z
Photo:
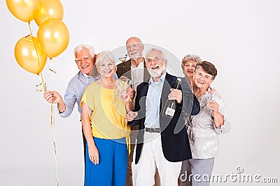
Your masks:
M45 67L47 55L41 49L37 38L25 36L15 44L15 59L23 69L38 74Z

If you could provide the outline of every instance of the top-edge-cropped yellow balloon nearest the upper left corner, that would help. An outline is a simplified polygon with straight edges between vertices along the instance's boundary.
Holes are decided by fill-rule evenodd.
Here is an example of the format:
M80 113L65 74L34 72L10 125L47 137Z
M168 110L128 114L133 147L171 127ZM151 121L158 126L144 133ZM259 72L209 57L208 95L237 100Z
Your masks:
M10 13L23 22L34 20L39 0L6 0Z

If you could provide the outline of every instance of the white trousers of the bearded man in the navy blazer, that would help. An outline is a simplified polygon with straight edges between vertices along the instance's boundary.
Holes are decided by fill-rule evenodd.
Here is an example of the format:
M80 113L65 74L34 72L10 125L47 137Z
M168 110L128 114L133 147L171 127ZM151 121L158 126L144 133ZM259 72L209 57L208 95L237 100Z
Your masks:
M176 186L181 171L182 162L169 162L162 153L160 133L144 133L144 145L139 162L135 164L135 150L132 162L132 177L134 186L155 185L155 171L158 168L161 186Z

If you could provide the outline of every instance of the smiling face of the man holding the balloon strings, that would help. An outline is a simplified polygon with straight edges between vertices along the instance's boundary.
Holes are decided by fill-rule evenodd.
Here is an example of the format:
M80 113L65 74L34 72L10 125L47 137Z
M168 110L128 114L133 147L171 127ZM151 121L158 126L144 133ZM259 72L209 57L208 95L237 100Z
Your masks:
M75 61L78 69L86 75L90 75L90 71L94 65L94 57L90 54L87 48L84 48L80 52L76 52Z

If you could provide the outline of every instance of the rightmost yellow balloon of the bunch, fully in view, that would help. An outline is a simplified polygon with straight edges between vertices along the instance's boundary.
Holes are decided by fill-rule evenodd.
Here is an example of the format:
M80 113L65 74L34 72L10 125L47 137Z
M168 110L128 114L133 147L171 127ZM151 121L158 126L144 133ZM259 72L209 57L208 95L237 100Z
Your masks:
M49 19L38 29L37 38L50 58L61 54L69 44L69 31L62 20Z

